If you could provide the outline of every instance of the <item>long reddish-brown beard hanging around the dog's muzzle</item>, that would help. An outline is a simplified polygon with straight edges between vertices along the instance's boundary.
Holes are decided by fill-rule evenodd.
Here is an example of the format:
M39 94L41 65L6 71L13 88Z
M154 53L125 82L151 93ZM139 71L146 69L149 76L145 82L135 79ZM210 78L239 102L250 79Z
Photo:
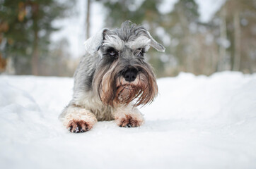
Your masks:
M94 91L105 105L127 106L135 100L134 106L150 104L158 93L156 77L147 63L136 65L140 71L133 82L127 82L120 75L123 66L115 61L109 67L95 72Z

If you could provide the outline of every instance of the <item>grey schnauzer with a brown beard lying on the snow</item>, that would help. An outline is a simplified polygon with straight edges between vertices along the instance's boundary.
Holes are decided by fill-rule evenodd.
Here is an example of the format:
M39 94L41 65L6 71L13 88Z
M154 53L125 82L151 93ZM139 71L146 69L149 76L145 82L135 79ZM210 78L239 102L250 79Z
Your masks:
M158 94L156 75L145 60L150 46L165 51L145 27L127 20L86 40L86 54L74 74L74 95L59 120L70 132L86 132L97 121L115 120L120 127L139 127L137 106Z

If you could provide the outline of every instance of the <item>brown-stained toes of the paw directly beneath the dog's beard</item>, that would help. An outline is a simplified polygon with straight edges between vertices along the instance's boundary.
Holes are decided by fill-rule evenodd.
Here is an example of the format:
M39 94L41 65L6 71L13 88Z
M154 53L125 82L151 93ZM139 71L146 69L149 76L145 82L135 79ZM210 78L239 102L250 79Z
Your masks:
M120 127L139 127L144 123L144 118L141 114L125 114L116 117L115 121Z

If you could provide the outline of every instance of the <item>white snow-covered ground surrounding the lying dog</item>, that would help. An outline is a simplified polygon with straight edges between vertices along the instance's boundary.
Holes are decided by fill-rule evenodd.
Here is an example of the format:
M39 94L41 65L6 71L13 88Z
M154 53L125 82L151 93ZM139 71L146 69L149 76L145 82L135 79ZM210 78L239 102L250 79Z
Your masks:
M256 74L158 80L146 123L69 133L68 77L0 76L0 168L256 168Z

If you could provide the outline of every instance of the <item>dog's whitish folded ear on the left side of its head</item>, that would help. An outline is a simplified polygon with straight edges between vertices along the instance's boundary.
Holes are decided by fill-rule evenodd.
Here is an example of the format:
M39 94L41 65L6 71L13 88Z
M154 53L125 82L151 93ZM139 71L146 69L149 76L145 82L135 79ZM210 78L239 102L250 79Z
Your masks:
M96 33L93 37L90 37L86 42L84 42L86 51L88 51L89 54L94 55L94 53L98 51L100 46L103 44L103 39L107 30L107 28L100 30L100 32Z

